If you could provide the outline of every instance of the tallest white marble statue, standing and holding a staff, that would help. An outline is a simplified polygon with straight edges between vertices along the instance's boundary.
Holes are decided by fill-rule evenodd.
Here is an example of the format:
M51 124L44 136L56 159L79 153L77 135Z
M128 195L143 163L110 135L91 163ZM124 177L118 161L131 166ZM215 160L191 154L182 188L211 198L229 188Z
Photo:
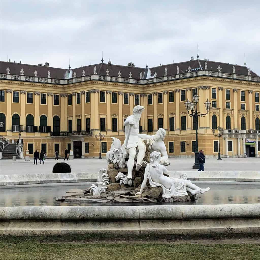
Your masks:
M146 146L141 138L139 138L139 121L144 111L143 106L135 106L133 114L129 115L124 123L125 126L125 141L122 145L123 158L128 157L127 161L127 179L132 179L132 171L134 167L134 159L137 155L135 170L139 171L142 167L142 160L145 156Z

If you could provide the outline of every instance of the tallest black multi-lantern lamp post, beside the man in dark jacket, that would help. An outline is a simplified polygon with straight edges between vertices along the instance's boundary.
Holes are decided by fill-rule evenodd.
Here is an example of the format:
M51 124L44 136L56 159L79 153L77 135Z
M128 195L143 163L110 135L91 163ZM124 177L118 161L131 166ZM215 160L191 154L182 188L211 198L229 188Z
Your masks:
M211 102L209 101L209 99L207 99L206 102L204 102L207 113L200 113L197 110L197 104L199 102L199 96L197 94L195 94L193 96L192 101L190 102L189 99L187 99L187 101L185 102L185 107L187 109L188 114L193 118L193 120L195 120L195 125L196 125L196 145L195 145L195 151L194 151L194 155L195 155L195 163L192 166L192 169L199 169L199 162L198 162L198 118L202 117L202 116L206 116L207 113L209 113L210 110L210 105Z

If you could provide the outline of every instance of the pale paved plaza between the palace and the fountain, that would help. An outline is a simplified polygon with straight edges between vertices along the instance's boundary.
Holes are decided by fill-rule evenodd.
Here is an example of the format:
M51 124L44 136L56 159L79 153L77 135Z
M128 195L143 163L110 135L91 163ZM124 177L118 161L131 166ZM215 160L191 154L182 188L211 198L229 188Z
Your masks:
M192 170L194 159L170 158L171 165L167 166L171 171L196 171ZM59 159L59 162L63 162ZM98 172L101 168L107 168L106 159L74 159L66 161L71 166L72 172ZM33 164L33 160L25 162L17 160L0 160L0 174L25 174L25 173L51 173L54 159L47 159L45 164ZM217 160L213 158L206 159L205 171L260 171L260 158L226 158Z

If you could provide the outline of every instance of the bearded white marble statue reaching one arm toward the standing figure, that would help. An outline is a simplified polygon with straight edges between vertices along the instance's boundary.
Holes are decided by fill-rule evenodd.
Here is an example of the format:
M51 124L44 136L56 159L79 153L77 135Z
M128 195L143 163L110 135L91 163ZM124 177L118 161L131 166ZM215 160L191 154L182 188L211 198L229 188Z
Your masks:
M166 131L163 128L159 128L155 135L138 134L140 138L147 139L151 153L154 151L161 153L160 163L168 160L168 154L164 144L165 135Z

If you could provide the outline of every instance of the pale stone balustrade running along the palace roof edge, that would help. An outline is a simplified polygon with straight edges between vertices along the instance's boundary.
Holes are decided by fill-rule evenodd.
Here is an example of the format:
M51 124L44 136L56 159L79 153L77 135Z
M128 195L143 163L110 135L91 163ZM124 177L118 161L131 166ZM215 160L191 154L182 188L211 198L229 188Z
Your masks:
M88 80L102 80L102 81L115 81L115 82L124 82L124 83L133 83L133 84L151 84L154 82L162 82L169 80L178 80L185 79L189 77L195 76L214 76L214 77L223 77L229 79L240 79L246 81L258 81L260 82L260 77L252 77L247 75L237 75L235 73L224 73L224 72L216 72L210 70L197 70L192 72L185 72L181 74L175 74L164 77L154 77L150 79L132 79L132 78L123 78L123 77L114 77L114 76L104 76L104 75L89 75L89 76L80 76L71 79L52 79L45 77L33 77L33 76L24 76L24 75L11 75L11 74L0 74L0 79L11 79L11 80L21 80L21 81L34 81L34 82L44 82L44 83L55 83L55 84L70 84L70 83L78 83L82 81Z

